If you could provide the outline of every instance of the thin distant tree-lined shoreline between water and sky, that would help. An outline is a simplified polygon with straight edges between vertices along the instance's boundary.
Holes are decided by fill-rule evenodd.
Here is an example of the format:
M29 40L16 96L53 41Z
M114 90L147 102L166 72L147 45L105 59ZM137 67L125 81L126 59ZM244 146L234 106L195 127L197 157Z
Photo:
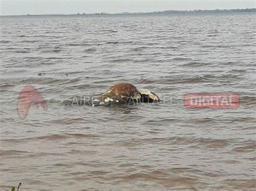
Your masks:
M256 12L256 8L250 9L214 9L214 10L166 10L166 11L154 11L154 12L122 12L122 13L71 13L71 14L38 14L38 15L1 15L1 17L10 17L10 16L92 16L92 15L172 15L172 14L184 14L184 13L237 13L237 12Z

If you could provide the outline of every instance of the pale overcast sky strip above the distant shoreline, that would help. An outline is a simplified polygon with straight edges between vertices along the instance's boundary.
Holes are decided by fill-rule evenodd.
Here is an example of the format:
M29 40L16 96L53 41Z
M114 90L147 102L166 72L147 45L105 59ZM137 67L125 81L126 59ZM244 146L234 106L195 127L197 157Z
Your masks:
M256 0L0 0L0 15L255 8Z

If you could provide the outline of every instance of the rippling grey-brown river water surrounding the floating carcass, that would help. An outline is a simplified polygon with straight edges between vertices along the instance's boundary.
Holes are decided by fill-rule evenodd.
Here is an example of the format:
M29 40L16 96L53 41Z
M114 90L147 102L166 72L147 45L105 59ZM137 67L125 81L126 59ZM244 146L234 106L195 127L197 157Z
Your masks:
M1 190L254 190L255 14L1 17ZM68 105L120 82L159 104ZM19 117L19 93L48 109ZM187 109L235 93L237 109Z

